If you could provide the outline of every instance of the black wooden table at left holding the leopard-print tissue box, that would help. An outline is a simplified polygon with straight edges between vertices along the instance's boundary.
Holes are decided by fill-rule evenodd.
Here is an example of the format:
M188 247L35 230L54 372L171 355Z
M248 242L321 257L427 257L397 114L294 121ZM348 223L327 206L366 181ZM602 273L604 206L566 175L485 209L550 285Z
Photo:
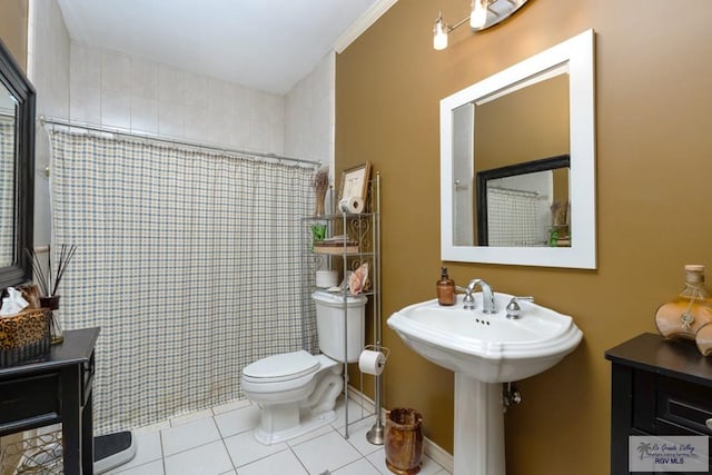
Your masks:
M66 475L93 473L91 388L99 328L65 331L37 360L0 368L0 436L62 423Z

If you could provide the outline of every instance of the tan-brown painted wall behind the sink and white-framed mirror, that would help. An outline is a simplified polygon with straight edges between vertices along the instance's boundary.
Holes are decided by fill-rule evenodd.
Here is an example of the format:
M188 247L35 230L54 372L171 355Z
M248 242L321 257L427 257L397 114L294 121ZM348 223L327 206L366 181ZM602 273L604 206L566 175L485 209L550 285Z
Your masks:
M712 274L712 2L684 11L650 0L531 0L478 34L432 48L437 11L466 0L400 0L337 58L336 164L370 159L383 176L387 407L419 409L426 434L452 449L453 374L405 347L385 325L435 297L439 259L438 101L589 28L596 31L597 270L447 263L457 283L534 295L574 316L575 353L521 382L506 414L507 473L601 475L610 461L605 349L654 331L656 307L682 286L683 265Z

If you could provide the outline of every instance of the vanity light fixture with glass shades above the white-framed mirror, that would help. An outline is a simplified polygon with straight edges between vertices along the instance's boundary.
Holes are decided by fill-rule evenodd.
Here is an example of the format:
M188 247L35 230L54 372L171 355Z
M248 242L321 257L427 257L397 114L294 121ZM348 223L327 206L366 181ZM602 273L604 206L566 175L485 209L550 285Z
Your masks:
M527 0L472 0L469 16L452 27L443 20L443 14L438 13L433 28L433 48L438 51L447 48L449 32L467 21L473 31L486 30L512 16L526 2Z

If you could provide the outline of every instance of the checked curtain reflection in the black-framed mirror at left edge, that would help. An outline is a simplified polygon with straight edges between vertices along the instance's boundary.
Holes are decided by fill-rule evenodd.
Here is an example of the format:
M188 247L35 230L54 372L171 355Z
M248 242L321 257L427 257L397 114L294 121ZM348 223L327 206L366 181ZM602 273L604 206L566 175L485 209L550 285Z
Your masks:
M0 111L0 267L16 260L14 116Z

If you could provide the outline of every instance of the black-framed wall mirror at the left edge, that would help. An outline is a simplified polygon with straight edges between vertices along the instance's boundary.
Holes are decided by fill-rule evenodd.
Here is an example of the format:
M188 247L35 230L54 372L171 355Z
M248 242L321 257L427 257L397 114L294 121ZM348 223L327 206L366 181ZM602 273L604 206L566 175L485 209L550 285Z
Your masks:
M0 41L0 290L32 278L34 88Z

